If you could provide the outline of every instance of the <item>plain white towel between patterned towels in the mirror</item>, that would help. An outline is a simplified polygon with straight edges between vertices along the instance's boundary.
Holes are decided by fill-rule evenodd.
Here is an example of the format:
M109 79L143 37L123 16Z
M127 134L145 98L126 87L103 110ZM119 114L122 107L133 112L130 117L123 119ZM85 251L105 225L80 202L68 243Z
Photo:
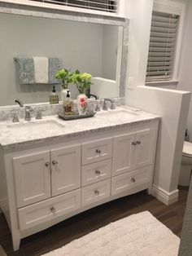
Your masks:
M46 57L33 57L35 70L35 83L48 83L48 59Z

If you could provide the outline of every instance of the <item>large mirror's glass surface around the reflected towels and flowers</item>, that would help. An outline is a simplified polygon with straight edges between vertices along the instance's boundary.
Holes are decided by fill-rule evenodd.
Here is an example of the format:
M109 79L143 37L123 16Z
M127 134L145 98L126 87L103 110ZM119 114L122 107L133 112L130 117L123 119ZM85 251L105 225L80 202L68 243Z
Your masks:
M116 25L91 24L25 15L0 14L0 105L49 101L53 85L20 84L15 57L60 58L63 68L91 73L91 93L103 97L120 94L120 63L123 28ZM76 99L76 86L69 86ZM59 94L62 86L55 85Z

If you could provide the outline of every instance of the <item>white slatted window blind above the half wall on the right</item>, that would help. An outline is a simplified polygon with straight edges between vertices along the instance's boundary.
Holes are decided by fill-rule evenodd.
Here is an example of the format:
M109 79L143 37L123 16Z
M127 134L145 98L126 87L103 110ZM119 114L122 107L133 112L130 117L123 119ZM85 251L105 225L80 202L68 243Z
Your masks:
M179 16L153 11L146 81L170 80Z

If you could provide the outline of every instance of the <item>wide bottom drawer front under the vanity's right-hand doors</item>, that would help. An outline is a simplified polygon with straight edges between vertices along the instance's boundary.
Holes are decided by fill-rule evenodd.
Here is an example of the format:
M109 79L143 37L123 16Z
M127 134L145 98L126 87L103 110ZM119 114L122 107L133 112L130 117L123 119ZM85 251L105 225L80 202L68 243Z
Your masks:
M146 166L138 170L130 171L127 174L120 174L111 181L111 195L126 192L132 188L139 188L151 180L151 166Z

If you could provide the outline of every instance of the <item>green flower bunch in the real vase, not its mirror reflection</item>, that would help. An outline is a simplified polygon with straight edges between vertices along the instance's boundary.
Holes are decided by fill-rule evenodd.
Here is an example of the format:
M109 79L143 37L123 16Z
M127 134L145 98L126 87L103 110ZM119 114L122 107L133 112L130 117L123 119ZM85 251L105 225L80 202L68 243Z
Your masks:
M79 70L76 70L76 72L72 74L72 82L76 84L81 94L86 93L90 89L90 85L92 84L91 78L90 73L80 73Z

